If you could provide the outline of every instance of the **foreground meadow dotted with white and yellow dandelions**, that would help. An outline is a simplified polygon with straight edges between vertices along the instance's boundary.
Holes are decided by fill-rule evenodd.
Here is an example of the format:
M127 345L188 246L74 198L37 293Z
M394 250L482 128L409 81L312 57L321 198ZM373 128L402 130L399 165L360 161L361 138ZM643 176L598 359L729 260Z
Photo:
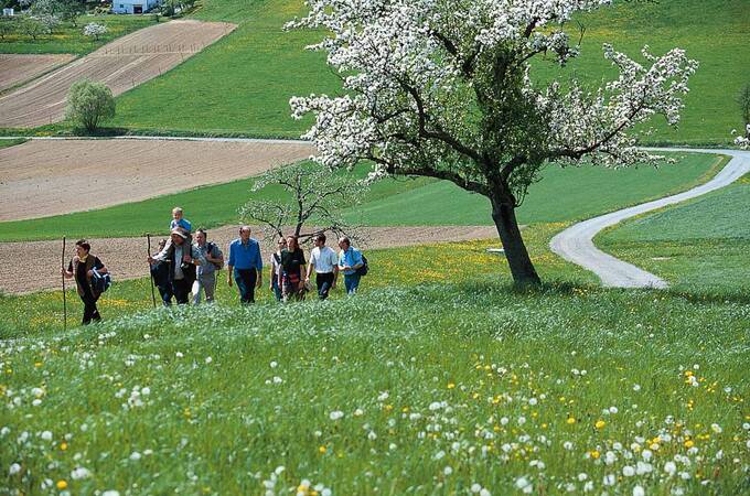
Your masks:
M547 277L576 280L548 256L555 230L532 229L532 255ZM103 299L108 322L67 333L58 292L0 296L4 315L24 314L0 331L0 425L10 429L0 466L23 468L3 484L260 494L283 465L283 494L304 478L334 494L469 494L472 484L512 494L522 476L535 493L580 493L580 473L596 493L701 493L704 478L717 494L743 492L747 299L586 284L515 292L484 247L373 252L363 293L326 304L242 309L222 289L213 308L116 319L148 298L147 281L119 283ZM602 485L647 460L644 449L651 472ZM677 454L690 460L677 465L688 479L665 474ZM73 479L76 467L90 477Z

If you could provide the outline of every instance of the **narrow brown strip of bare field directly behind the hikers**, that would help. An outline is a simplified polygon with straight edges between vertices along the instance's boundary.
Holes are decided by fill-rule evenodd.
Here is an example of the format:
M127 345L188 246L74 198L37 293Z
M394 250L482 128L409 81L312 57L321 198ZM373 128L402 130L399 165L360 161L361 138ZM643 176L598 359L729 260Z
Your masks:
M368 239L365 245L368 249L497 237L497 231L491 226L367 227L363 233ZM258 234L259 231L254 229L253 237L260 238ZM208 240L217 242L225 254L229 241L236 237L237 226L218 227L208 231ZM158 239L154 237L151 241L154 251ZM71 246L73 242L75 241L68 244L66 254L68 259L74 255ZM89 239L89 242L92 254L101 258L117 281L149 274L146 238ZM497 244L500 245L500 241ZM331 241L328 245L335 247ZM270 251L265 244L261 246L266 261ZM33 274L26 265L8 263L0 271L0 291L29 293L60 288L61 248L61 241L0 242L6 260L33 260Z

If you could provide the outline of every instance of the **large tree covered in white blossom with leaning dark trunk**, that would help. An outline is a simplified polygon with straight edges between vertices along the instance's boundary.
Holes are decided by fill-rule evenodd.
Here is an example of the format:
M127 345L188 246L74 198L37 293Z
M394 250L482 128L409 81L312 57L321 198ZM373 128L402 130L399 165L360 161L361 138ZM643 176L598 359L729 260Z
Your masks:
M288 28L324 29L344 95L291 99L321 165L374 165L373 177L448 180L486 196L514 281L537 283L515 216L544 164L623 166L658 159L635 148L634 125L676 125L697 63L674 48L645 64L604 45L619 76L597 90L542 84L529 63L560 67L579 46L562 26L610 0L308 0Z

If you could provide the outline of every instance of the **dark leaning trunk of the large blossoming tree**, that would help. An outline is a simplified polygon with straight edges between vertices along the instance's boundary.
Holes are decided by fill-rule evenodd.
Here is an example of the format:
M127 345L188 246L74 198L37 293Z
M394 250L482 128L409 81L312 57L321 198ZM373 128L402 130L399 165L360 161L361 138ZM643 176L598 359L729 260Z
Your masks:
M492 219L495 222L500 240L503 242L511 276L516 284L540 284L542 280L534 269L534 263L528 256L521 229L515 217L515 207L511 202L491 197Z

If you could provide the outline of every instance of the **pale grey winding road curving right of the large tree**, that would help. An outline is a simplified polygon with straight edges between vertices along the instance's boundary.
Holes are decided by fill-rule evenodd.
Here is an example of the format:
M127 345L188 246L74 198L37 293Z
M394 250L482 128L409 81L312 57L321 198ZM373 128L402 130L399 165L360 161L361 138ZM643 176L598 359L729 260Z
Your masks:
M593 246L593 237L602 229L613 226L626 218L684 202L727 186L750 172L750 151L682 148L658 148L652 150L715 153L730 155L732 159L712 180L700 186L673 196L583 220L582 223L570 226L551 239L549 247L555 254L592 271L599 276L602 284L606 287L664 289L667 287L667 283L653 273L619 260Z

